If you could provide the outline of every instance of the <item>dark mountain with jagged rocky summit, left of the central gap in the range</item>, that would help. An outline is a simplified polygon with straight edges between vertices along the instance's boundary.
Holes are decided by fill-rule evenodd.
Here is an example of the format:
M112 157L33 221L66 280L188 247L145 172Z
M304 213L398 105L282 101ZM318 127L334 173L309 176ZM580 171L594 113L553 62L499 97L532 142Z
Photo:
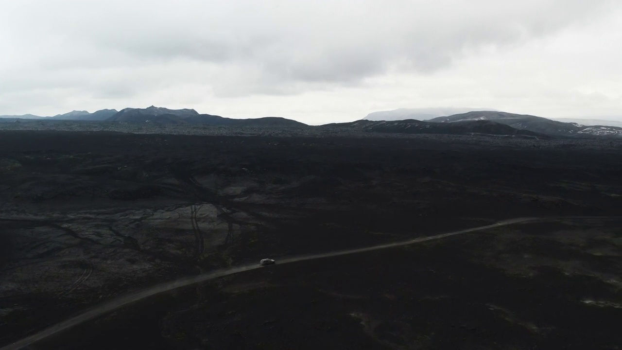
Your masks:
M169 110L151 106L149 108L125 108L108 118L108 121L161 124L206 124L233 126L307 126L295 120L278 117L232 119L218 115L199 114L195 110Z

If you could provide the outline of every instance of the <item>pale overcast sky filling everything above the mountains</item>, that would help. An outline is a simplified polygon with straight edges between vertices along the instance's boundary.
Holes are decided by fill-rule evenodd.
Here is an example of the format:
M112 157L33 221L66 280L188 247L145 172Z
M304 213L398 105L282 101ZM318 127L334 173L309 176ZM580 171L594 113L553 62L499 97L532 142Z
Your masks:
M0 0L0 115L622 119L620 0Z

